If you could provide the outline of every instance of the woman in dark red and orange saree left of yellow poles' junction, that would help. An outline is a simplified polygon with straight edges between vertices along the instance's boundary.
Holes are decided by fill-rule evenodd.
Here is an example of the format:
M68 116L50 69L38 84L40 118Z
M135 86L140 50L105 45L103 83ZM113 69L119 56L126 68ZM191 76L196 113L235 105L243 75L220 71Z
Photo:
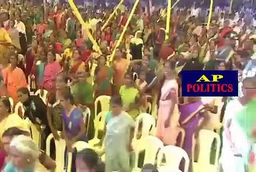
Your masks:
M85 62L82 62L81 52L78 49L73 49L73 58L70 60L68 65L68 75L74 78L78 71L85 70Z

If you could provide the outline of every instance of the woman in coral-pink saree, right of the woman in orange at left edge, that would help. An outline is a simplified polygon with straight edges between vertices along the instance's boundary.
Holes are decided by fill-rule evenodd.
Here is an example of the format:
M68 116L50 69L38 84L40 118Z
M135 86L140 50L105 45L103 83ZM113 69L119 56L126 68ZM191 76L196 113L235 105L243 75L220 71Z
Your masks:
M56 54L54 52L48 52L47 59L48 63L44 68L42 87L49 91L55 87L55 80L57 74L61 71L61 67L58 62L55 62Z

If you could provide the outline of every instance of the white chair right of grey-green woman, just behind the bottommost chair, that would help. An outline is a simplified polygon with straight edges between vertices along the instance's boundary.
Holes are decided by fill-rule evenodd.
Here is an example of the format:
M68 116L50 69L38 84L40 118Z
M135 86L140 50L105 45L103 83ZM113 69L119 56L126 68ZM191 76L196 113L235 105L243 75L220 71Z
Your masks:
M146 163L155 164L157 153L160 148L163 148L163 142L152 135L148 135L148 137L146 138L145 144L141 145L141 147L144 148L145 150L143 166ZM140 150L143 150L142 148L138 148L135 150L135 163L134 163L133 172L141 171L141 169L138 168L138 156L139 156L139 153L141 153Z

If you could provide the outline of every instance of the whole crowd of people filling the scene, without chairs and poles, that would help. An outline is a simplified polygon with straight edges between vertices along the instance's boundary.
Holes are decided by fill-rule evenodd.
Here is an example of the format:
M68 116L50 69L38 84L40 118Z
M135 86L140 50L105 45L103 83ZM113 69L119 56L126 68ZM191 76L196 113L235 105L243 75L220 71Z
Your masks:
M1 4L0 170L54 171L54 151L44 153L52 133L54 140L65 140L66 153L73 153L72 171L131 171L136 118L156 108L155 136L164 145L183 148L191 161L200 130L212 130L222 136L220 171L247 172L256 135L254 11L217 6L207 28L207 9L175 8L166 33L164 8L138 5L128 21L131 7L120 6L103 27L113 9L81 7L87 32L65 2ZM238 70L238 97L182 97L181 70ZM93 138L96 117L83 112L100 113L95 100L103 95L111 97L104 139L98 143L105 145L104 162L93 149L72 148ZM41 133L40 147L30 137L27 120ZM154 165L142 170L157 171Z

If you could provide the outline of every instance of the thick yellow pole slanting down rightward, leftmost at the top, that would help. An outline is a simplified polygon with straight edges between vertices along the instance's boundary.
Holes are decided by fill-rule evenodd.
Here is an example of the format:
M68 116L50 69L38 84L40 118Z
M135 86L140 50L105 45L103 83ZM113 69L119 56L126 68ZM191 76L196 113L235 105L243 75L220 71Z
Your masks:
M102 54L102 52L100 51L100 47L98 46L97 42L93 38L93 35L90 34L89 27L87 26L85 21L82 19L82 16L81 16L80 12L78 11L77 6L75 6L74 1L73 0L68 0L68 3L70 4L70 7L72 8L72 10L73 10L75 16L77 17L78 21L80 22L80 24L82 24L82 27L85 27L85 30L88 34L88 37L89 37L90 41L93 42L93 47L94 47L95 51Z

